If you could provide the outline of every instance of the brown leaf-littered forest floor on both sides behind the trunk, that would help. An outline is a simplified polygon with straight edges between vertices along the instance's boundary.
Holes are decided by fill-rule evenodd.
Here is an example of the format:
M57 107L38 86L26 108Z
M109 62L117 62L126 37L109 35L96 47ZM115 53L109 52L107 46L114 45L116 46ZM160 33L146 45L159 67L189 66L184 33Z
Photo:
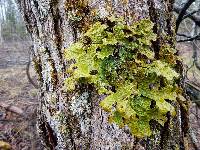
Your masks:
M28 42L0 45L0 141L9 143L13 150L43 150L36 133L38 90L26 75L29 45ZM191 65L191 45L181 45L181 49L184 64ZM189 71L189 78L200 82L199 72L193 70ZM36 78L33 69L30 74ZM200 110L195 103L191 104L189 118L191 139L200 147ZM190 141L189 150L192 147Z

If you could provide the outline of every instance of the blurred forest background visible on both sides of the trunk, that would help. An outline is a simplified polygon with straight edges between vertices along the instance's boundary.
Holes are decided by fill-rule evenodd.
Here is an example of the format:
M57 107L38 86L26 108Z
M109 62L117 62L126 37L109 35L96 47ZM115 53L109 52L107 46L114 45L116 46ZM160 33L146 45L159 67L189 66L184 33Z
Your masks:
M185 11L184 11L185 9ZM200 149L200 0L176 0L177 50L190 107L190 147ZM36 134L37 80L31 39L14 0L0 0L0 149L42 150ZM4 143L6 142L6 143Z

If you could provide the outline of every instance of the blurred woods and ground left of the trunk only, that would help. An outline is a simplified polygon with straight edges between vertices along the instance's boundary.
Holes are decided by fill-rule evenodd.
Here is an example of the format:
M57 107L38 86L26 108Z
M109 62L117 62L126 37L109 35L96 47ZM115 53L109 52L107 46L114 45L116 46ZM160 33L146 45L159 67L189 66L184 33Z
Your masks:
M30 73L36 82L30 46L16 3L0 0L0 149L3 142L13 150L43 149L35 126L37 89L27 78Z

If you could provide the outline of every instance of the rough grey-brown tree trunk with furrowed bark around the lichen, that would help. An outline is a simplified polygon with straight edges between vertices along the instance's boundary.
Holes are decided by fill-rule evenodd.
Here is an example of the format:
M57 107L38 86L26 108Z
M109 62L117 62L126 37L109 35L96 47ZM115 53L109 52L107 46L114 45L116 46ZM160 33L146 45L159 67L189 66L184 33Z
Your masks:
M48 149L186 149L187 112L182 105L174 104L177 115L169 116L164 127L158 128L153 123L154 134L138 140L127 128L108 123L108 113L99 107L102 97L93 89L80 86L79 92L66 93L64 87L68 67L64 49L77 41L84 27L93 23L94 12L100 18L123 16L128 23L150 18L158 35L152 48L159 53L161 44L175 45L173 0L17 0L17 3L34 44L32 56L40 85L38 131ZM77 12L81 21L71 18Z

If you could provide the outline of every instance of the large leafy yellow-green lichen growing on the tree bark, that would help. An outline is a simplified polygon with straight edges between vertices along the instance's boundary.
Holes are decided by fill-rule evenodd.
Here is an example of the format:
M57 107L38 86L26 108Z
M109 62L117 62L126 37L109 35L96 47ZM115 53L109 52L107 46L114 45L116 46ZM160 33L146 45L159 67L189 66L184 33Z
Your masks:
M126 25L123 19L110 17L93 24L65 53L67 60L75 60L67 70L67 90L83 82L92 84L107 95L100 106L110 112L109 121L128 125L137 137L152 134L150 120L164 125L167 112L175 115L166 100L178 96L179 74L174 61L165 59L176 59L174 50L165 46L161 59L155 59L151 43L157 37L152 28L149 19Z

